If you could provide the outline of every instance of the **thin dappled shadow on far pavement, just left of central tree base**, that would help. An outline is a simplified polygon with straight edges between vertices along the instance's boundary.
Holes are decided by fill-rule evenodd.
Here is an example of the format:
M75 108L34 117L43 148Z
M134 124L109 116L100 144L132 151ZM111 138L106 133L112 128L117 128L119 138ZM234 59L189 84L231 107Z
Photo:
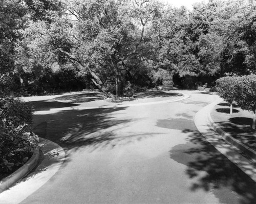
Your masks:
M102 99L102 93L85 93L64 95L52 99L53 101L69 101L70 103L86 103Z

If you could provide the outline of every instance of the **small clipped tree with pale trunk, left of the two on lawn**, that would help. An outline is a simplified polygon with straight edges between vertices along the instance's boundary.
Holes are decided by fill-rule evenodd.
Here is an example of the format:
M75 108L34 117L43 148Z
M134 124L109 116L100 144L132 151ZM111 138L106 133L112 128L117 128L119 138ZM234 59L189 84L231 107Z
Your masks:
M216 81L218 95L230 104L230 114L232 114L232 103L238 98L239 77L222 77Z

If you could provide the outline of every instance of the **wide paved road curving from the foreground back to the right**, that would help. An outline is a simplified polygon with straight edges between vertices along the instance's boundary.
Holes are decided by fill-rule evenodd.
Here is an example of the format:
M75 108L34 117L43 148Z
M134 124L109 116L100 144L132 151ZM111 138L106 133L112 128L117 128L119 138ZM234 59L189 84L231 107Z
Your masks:
M22 203L256 203L255 184L197 131L215 96L35 115L65 149L61 169Z

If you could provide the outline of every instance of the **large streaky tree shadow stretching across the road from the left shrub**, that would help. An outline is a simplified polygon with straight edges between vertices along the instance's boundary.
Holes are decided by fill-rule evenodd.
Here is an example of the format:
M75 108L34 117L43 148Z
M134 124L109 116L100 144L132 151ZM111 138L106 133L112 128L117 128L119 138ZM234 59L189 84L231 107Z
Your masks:
M65 110L55 114L35 115L34 132L40 137L56 142L66 152L80 147L88 147L92 151L104 147L112 148L150 136L116 135L115 131L126 127L131 121L113 116L121 114L122 110L125 108Z

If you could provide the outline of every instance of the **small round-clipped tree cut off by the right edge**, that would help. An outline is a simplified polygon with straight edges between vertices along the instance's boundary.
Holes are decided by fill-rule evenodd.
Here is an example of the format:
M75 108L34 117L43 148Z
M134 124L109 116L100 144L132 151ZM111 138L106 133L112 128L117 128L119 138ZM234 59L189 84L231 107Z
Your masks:
M243 110L253 112L251 128L255 129L256 120L256 75L248 75L240 77L237 86L236 101Z

